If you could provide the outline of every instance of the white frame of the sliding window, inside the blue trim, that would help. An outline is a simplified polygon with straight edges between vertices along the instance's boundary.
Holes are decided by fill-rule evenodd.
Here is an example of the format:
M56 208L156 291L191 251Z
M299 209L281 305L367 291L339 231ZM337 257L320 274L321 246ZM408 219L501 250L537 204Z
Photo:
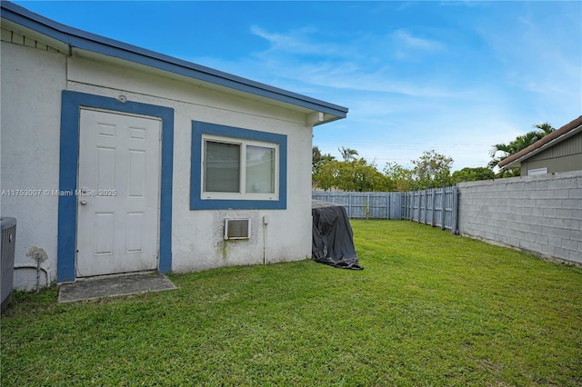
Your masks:
M216 192L206 192L205 187L205 176L206 176L206 142L215 142L223 144L236 144L240 145L240 160L239 160L239 192L238 193L216 193ZM202 173L200 174L200 198L202 200L269 200L276 201L279 200L279 144L266 143L256 140L248 140L244 138L234 138L219 136L213 134L203 134L202 135L202 149L200 152ZM275 150L274 157L274 193L246 193L246 146L261 146L266 148L271 148Z

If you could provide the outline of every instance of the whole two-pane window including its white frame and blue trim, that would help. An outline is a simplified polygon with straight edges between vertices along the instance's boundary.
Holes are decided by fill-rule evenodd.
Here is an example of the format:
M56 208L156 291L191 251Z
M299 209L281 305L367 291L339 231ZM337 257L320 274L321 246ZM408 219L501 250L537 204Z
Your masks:
M194 121L190 208L286 208L286 135Z

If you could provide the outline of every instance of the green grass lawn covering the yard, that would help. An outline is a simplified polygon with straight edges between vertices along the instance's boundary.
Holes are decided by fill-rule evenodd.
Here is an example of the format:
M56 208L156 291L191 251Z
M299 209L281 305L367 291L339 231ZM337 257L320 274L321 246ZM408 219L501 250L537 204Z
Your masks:
M2 385L582 385L582 270L416 223L352 225L364 271L225 268L86 303L17 293Z

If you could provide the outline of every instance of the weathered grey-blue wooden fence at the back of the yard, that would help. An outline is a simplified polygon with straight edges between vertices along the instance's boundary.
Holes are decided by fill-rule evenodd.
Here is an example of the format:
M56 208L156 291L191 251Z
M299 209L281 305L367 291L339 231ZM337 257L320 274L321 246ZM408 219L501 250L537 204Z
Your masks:
M343 205L351 219L406 219L458 232L457 187L409 193L314 191L311 197Z

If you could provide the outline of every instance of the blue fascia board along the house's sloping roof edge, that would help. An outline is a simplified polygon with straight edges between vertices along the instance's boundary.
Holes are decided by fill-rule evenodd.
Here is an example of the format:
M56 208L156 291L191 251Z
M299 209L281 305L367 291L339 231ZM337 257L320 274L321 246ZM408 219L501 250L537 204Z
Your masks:
M326 122L346 118L346 107L330 104L306 95L289 92L268 84L261 84L233 74L223 73L203 65L196 65L135 45L127 45L67 25L61 25L8 1L3 0L1 3L3 19L16 25L23 25L38 34L48 36L68 45L68 52L71 55L75 50L107 55L131 61L139 65L146 65L164 72L183 75L197 81L202 81L205 84L224 86L246 95L253 94L259 98L267 98L278 103L292 104L304 108L306 113L315 113L311 119L313 124L325 124ZM3 24L5 24L4 20Z

